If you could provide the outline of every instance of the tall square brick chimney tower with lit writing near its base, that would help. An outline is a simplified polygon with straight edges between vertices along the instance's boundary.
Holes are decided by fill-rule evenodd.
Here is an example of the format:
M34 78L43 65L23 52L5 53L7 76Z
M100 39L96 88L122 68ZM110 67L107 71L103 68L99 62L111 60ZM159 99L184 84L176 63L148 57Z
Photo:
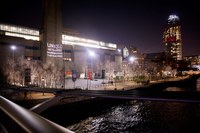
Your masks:
M43 25L40 35L42 61L53 61L62 66L61 0L43 0L43 8Z

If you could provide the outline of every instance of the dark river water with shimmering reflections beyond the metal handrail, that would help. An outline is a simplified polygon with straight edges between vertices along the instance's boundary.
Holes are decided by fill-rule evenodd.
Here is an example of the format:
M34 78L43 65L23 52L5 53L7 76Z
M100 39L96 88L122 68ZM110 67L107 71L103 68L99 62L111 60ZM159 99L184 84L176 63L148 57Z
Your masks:
M76 133L200 133L197 103L97 98L52 107L41 115Z

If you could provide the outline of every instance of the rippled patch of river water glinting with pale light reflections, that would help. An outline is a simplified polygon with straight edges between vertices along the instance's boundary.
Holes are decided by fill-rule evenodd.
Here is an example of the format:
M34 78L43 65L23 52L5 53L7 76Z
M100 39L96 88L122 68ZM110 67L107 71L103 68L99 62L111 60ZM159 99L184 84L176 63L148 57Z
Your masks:
M114 106L97 117L89 117L78 124L71 125L69 128L76 133L81 132L125 132L138 124L148 122L143 116L143 103L130 101L125 105ZM139 128L137 128L138 130Z

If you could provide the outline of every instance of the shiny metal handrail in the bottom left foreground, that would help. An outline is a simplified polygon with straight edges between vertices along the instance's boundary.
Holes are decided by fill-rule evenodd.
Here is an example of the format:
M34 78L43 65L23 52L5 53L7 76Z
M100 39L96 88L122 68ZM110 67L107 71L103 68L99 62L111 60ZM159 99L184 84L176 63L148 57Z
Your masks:
M0 96L0 108L27 132L74 133Z

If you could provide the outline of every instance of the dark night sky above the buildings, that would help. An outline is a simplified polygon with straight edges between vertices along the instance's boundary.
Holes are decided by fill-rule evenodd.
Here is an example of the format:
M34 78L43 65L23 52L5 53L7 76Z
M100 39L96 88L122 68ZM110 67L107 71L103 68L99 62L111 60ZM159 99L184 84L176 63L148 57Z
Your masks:
M0 22L40 28L42 1L3 0ZM200 4L189 0L64 0L63 25L83 37L162 52L170 14L181 20L183 55L200 54Z

